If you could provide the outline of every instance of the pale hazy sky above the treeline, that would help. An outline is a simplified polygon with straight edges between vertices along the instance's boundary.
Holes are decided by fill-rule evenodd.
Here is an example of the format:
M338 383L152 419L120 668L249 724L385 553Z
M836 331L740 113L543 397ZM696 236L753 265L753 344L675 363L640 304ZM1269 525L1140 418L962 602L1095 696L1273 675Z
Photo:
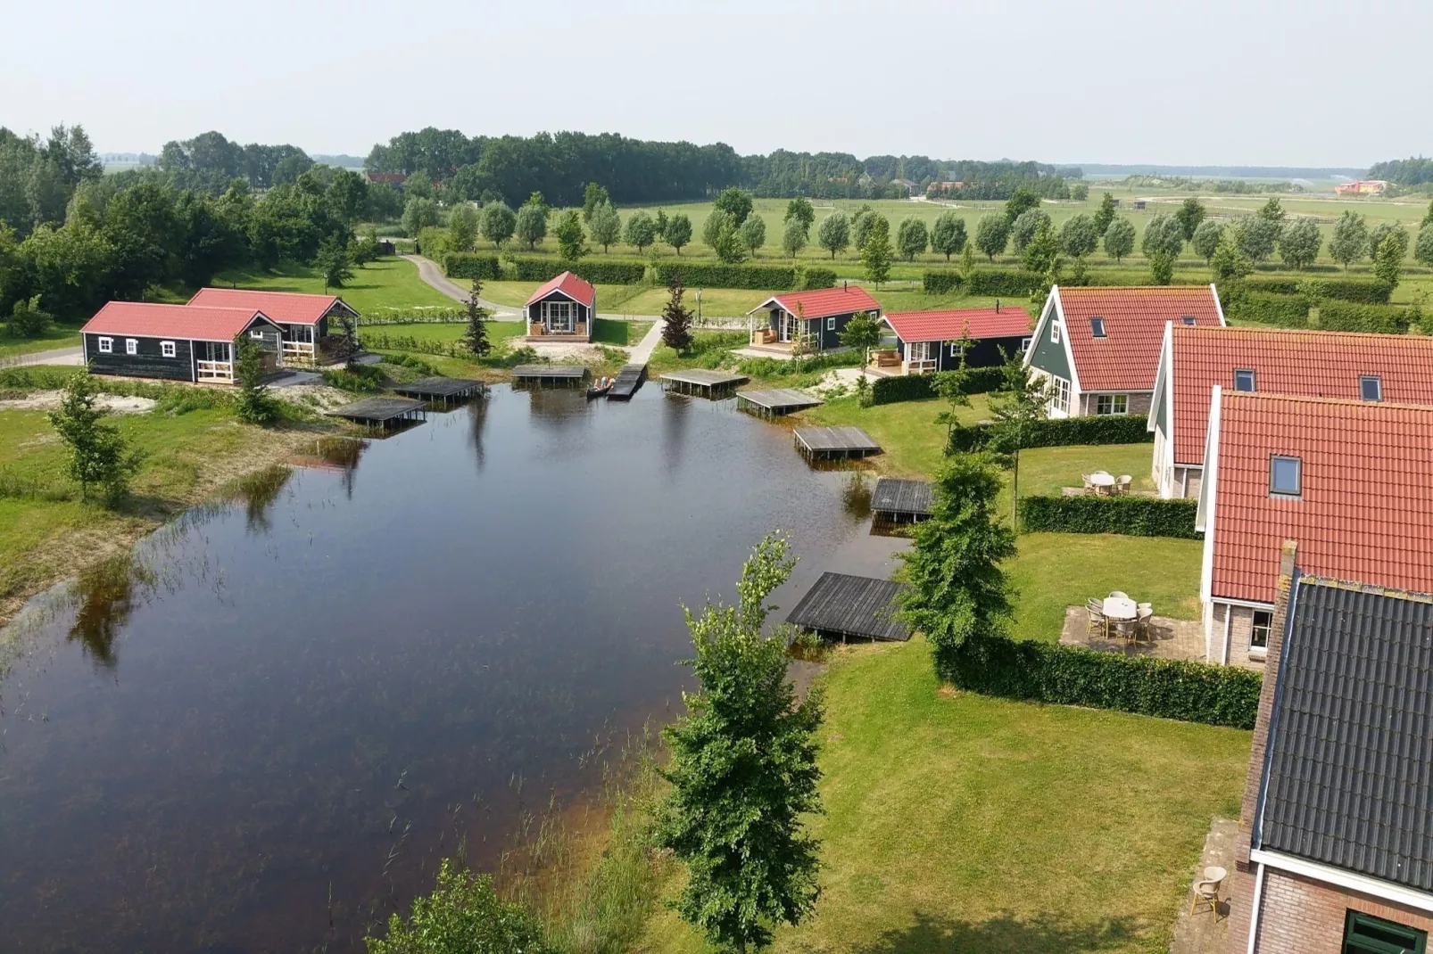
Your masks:
M1045 162L1433 153L1433 1L6 0L0 125L365 155L423 126Z

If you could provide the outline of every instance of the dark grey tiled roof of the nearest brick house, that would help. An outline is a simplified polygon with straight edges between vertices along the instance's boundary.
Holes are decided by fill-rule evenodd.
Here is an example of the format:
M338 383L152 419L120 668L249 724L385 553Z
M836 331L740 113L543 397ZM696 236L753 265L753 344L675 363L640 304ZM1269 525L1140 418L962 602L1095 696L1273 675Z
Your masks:
M1433 603L1298 579L1254 847L1433 891Z

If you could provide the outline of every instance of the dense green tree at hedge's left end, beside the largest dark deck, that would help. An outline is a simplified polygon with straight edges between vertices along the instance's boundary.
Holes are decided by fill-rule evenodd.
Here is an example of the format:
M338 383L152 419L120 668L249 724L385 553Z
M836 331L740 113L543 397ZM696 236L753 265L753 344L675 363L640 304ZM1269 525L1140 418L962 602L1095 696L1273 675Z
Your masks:
M1000 564L1015 556L1015 533L996 521L1000 476L984 457L947 457L931 490L930 519L900 554L907 579L900 615L924 633L936 673L949 679L962 643L1006 630L1010 584Z

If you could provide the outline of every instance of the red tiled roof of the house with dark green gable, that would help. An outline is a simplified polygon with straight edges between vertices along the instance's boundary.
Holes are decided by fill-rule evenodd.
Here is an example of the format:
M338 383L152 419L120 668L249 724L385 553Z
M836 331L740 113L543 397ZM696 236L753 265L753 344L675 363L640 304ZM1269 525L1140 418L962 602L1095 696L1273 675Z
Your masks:
M1058 288L1082 391L1152 391L1166 321L1218 325L1219 302L1208 285ZM1091 331L1105 319L1105 337Z

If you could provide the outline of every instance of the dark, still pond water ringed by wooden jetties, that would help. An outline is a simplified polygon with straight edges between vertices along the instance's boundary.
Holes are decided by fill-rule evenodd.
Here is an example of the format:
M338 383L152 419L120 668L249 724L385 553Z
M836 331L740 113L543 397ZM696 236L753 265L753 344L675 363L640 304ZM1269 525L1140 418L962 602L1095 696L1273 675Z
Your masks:
M655 385L347 447L40 597L0 680L0 950L360 951L679 712L681 606L761 534L801 557L777 616L900 546L782 424Z

